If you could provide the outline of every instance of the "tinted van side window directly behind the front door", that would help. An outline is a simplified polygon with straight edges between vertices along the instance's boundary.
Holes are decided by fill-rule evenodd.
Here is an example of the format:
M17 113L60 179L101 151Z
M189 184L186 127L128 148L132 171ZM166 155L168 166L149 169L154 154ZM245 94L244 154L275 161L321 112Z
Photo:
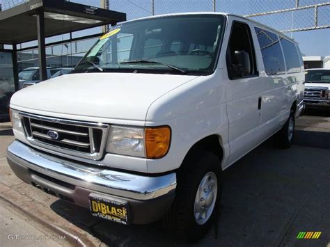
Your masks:
M255 28L255 31L266 73L272 75L285 72L284 58L278 36L258 27Z

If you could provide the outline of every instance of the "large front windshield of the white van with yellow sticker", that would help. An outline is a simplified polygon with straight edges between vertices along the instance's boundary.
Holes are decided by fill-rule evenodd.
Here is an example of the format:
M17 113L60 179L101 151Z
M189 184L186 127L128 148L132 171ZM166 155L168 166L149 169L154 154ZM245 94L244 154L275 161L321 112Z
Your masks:
M212 74L223 15L180 15L113 26L73 72Z

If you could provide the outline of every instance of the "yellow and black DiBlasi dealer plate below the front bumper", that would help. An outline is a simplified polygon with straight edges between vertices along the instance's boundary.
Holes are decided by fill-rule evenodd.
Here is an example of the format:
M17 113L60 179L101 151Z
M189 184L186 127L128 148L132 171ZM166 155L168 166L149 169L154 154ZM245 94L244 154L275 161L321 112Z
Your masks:
M128 223L128 205L125 202L91 194L89 196L89 206L93 216L124 225Z

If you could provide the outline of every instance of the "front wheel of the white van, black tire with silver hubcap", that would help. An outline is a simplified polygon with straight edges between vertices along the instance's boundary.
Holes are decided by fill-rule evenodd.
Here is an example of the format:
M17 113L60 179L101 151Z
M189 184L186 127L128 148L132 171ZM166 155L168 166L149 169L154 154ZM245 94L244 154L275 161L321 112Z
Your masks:
M212 152L198 150L184 159L176 196L164 217L166 228L189 242L203 238L219 215L221 164Z

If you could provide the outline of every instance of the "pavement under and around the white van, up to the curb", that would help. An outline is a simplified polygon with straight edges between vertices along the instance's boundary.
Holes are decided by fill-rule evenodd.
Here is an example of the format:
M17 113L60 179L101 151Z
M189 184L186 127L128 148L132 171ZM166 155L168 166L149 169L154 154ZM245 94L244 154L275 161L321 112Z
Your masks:
M230 166L223 174L219 220L196 246L330 246L329 121L329 115L304 115L296 121L290 149L274 148L270 138ZM161 223L124 226L93 218L88 209L20 182L4 158L3 145L13 140L5 133L9 136L0 129L0 185L20 194L17 205L33 200L36 218L40 210L58 228L65 226L109 246L184 245ZM10 195L1 191L1 196ZM319 239L297 239L299 232L322 234Z

